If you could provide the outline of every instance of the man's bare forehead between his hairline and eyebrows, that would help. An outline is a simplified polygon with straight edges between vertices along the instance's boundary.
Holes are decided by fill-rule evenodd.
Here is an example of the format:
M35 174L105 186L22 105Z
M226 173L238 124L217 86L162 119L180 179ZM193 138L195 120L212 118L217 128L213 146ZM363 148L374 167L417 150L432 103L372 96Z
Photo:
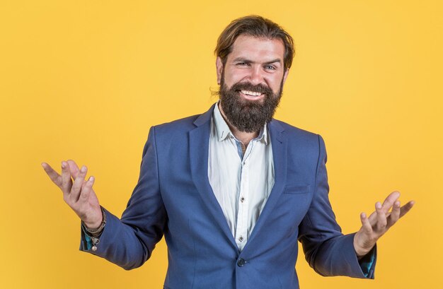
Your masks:
M284 45L282 40L240 35L236 38L228 60L236 58L251 59L254 61L269 61L280 59L283 63Z

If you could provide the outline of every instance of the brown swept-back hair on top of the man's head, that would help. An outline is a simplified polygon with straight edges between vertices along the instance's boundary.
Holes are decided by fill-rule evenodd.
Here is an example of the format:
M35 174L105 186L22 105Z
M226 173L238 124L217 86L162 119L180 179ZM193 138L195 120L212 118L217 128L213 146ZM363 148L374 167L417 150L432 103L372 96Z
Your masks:
M226 58L232 52L232 45L240 35L251 35L268 39L280 39L284 45L284 69L289 69L294 58L294 40L291 35L283 30L277 23L257 15L245 16L233 20L217 40L214 53L226 64Z

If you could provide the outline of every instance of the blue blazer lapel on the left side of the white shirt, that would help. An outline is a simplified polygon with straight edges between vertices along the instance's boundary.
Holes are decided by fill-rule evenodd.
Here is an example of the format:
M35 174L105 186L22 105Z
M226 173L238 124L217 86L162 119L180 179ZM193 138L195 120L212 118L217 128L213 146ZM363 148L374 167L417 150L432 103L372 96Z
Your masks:
M211 184L209 184L208 172L208 158L209 158L209 134L211 131L211 119L214 105L198 117L194 124L197 126L189 133L189 147L190 147L190 167L192 180L197 187L200 196L203 199L203 204L207 206L209 214L216 220L219 227L222 229L228 240L234 247L237 247L232 236L229 225L224 218L222 208L217 201L217 198L212 191Z

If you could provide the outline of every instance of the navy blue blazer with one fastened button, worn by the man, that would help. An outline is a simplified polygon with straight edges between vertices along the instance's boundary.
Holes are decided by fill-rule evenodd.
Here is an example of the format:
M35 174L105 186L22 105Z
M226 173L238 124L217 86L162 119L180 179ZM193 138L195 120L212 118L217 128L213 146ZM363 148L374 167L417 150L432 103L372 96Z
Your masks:
M321 136L277 120L268 125L275 184L242 252L208 179L210 120L204 114L151 127L139 181L122 218L105 210L96 252L124 269L149 259L164 235L164 288L299 288L297 240L323 276L365 278L328 199L326 149ZM367 278L374 277L375 261Z

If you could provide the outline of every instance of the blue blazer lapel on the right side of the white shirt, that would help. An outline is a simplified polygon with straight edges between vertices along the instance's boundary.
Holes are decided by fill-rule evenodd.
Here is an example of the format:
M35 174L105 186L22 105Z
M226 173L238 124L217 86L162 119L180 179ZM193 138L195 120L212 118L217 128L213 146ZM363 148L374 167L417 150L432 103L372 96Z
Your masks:
M287 138L284 134L283 127L272 120L267 125L271 137L272 143L272 158L274 159L274 187L272 187L269 198L266 201L265 208L260 213L258 217L257 223L255 223L255 227L249 237L248 243L246 243L244 250L248 247L248 244L251 244L254 240L254 236L258 234L260 228L263 227L263 224L266 222L266 219L272 213L272 210L275 208L275 204L277 204L280 195L284 191L284 186L286 184L286 175L287 175Z

